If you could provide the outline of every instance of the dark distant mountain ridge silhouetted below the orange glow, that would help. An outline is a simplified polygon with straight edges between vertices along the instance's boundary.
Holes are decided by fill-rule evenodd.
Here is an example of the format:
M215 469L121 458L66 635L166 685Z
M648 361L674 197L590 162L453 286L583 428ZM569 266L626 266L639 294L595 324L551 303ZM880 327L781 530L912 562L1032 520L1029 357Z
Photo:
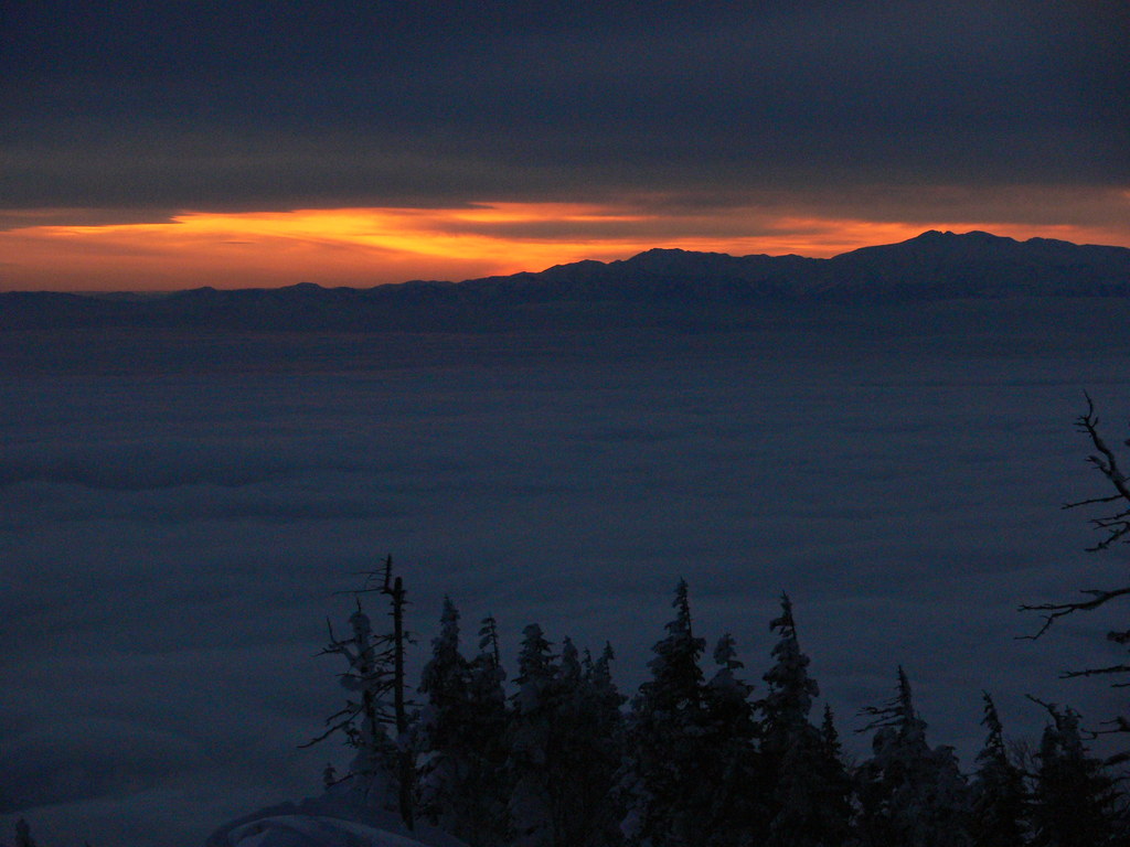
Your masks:
M1130 250L931 230L833 259L649 250L533 273L375 288L197 288L144 298L0 294L0 329L503 329L687 307L955 297L1130 296ZM641 312L642 309L642 312Z

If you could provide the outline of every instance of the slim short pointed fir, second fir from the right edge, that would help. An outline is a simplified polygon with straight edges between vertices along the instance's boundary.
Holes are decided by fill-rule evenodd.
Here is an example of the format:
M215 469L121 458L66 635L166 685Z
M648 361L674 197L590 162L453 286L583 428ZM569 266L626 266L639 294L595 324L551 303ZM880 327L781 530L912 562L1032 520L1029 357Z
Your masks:
M1024 774L1009 759L1005 728L988 692L981 723L989 734L977 753L971 786L974 847L1023 847L1027 842L1028 792Z

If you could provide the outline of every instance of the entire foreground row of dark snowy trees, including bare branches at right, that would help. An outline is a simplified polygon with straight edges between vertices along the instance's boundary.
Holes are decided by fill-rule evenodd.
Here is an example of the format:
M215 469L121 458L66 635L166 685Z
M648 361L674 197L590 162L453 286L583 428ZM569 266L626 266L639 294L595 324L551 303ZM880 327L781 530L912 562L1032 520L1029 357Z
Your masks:
M1094 448L1089 463L1112 494L1069 503L1099 506L1094 550L1130 540L1130 480L1102 438L1094 405L1077 419ZM1127 442L1130 445L1130 440ZM1113 509L1113 510L1112 510ZM776 635L764 692L744 675L725 634L704 662L689 590L676 586L673 617L652 648L650 678L631 698L616 687L610 645L597 655L541 628L523 630L507 693L497 622L463 653L460 615L445 599L438 636L407 714L403 586L386 560L380 591L391 631L374 635L358 602L353 636L329 653L349 662L342 682L360 696L330 719L357 756L348 774L328 769L327 787L360 806L395 809L471 847L1123 847L1130 796L1115 766L1088 749L1069 707L1034 700L1046 724L1033 746L1010 745L992 697L983 693L984 743L972 772L954 750L932 745L911 682L897 669L893 696L863 709L870 756L844 754L831 707L814 715L819 687L801 649L792 603L770 622ZM1066 614L1087 611L1130 587L1084 592L1085 600L1020 606L1044 612L1033 637ZM1130 644L1118 630L1107 638ZM1113 675L1130 666L1076 669L1064 676ZM391 697L391 699L390 699ZM366 705L367 704L367 705ZM1128 732L1127 716L1107 722Z

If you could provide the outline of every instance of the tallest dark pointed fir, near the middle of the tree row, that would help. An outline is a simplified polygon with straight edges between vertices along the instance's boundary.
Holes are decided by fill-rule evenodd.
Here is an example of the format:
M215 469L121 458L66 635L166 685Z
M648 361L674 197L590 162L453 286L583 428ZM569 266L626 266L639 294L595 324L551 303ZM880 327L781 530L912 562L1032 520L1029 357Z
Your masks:
M706 775L713 749L698 658L705 641L694 635L685 580L675 591L675 619L652 647L651 679L633 700L633 761L626 775L631 811L624 831L633 845L701 847L713 804Z

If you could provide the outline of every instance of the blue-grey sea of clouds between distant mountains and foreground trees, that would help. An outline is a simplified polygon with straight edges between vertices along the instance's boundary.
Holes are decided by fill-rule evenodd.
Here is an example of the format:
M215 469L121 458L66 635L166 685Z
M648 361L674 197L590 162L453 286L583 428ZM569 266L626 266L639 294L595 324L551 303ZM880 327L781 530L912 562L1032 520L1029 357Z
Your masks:
M1014 734L1042 722L1025 692L1103 717L1099 682L1057 673L1103 661L1104 623L1033 644L1016 606L1122 578L1059 506L1102 492L1084 388L1127 437L1128 325L1055 300L727 333L5 335L0 833L183 847L314 793L345 758L297 746L339 707L325 617L390 551L418 657L450 594L468 630L498 618L511 666L531 621L611 639L631 690L684 576L755 682L788 591L845 731L897 663L966 767L982 689Z

